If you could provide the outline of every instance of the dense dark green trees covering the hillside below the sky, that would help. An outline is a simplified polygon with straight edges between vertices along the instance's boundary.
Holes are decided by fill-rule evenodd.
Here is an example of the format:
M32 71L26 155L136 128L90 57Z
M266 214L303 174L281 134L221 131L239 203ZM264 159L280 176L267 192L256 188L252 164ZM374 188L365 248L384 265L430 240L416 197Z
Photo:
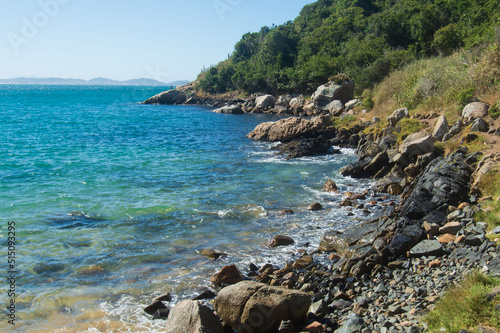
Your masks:
M200 74L198 88L310 93L342 72L362 91L417 59L493 42L498 25L497 0L318 0L294 21L245 34L229 59ZM408 83L400 98L409 106L440 88Z

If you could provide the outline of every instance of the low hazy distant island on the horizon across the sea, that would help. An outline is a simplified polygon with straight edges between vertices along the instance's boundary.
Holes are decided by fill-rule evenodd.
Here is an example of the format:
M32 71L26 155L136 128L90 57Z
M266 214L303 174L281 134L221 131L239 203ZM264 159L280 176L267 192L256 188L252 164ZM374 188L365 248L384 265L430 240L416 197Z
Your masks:
M57 85L85 85L85 86L181 86L190 81L179 80L170 83L160 82L153 79L132 79L127 81L117 81L103 77L81 80L81 79L61 79L61 78L26 78L0 79L0 84L57 84Z

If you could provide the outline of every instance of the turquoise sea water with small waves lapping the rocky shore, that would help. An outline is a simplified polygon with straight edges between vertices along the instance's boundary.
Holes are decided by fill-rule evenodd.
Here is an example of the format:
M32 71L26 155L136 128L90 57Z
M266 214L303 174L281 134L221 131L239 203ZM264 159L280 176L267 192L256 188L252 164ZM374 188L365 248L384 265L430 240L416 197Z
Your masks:
M0 253L15 221L19 270L17 323L0 330L161 331L142 312L154 296L175 303L226 264L280 262L356 223L321 191L329 178L367 185L338 174L352 152L286 161L246 138L278 118L137 103L160 91L0 86ZM305 210L315 201L327 210ZM262 246L277 233L296 245ZM210 261L207 248L228 257Z

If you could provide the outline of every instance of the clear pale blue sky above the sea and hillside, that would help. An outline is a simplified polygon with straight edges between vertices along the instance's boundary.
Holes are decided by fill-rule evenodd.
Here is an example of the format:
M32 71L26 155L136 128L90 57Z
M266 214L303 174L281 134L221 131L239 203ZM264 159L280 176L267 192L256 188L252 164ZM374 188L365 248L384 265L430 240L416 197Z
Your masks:
M193 80L313 0L0 0L0 78Z

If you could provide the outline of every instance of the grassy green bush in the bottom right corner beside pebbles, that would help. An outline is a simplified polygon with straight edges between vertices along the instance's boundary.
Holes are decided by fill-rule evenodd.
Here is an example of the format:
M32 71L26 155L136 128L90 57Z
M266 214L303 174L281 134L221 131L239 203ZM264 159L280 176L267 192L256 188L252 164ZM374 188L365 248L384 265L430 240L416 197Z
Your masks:
M472 273L459 286L452 287L425 317L428 332L476 330L479 324L500 329L500 313L495 310L500 299L497 297L490 301L486 297L499 285L499 279Z

